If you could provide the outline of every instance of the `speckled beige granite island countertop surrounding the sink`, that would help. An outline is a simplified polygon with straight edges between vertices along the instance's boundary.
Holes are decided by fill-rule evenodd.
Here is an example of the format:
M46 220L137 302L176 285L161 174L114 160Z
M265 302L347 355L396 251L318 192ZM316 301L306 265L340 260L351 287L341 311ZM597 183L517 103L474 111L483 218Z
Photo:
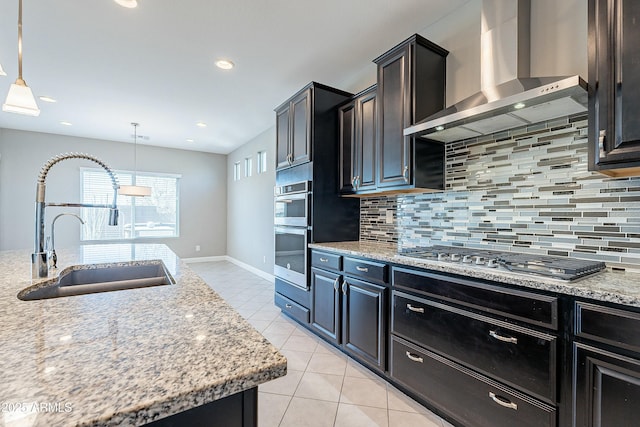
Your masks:
M21 301L28 251L0 252L0 426L140 425L286 374L287 361L164 245L58 251L74 265L160 259L176 283Z

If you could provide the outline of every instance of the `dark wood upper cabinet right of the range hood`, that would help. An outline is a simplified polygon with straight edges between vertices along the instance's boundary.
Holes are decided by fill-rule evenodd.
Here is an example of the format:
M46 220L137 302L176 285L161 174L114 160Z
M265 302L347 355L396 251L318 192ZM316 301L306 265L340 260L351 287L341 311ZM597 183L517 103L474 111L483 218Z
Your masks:
M589 0L589 169L640 176L640 2Z

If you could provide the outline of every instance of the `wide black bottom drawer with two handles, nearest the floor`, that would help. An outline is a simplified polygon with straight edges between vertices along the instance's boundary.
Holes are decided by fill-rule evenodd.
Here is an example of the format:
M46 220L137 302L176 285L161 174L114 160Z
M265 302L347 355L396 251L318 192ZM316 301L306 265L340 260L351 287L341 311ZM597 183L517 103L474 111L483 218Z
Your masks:
M468 427L553 427L556 408L391 338L391 376Z

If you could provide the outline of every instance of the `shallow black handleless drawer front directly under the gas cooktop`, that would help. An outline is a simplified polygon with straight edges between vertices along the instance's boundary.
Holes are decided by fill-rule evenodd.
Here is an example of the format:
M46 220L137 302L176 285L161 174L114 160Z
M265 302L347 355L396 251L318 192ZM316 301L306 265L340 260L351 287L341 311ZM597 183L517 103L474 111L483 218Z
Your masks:
M558 298L480 281L394 267L392 284L533 325L558 329Z

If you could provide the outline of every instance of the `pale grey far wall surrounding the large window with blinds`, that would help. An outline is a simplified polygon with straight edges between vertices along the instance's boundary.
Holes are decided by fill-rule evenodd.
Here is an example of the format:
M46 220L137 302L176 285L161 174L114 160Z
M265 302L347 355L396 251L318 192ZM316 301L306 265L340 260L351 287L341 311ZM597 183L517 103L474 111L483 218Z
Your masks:
M0 250L33 248L35 188L40 168L51 157L72 151L96 156L112 169L134 169L132 144L0 129ZM79 202L80 167L95 166L76 159L53 166L47 176L46 200ZM139 171L182 175L180 237L147 241L166 243L181 257L226 254L226 169L224 155L138 144ZM47 208L47 234L53 216L62 211ZM79 239L77 221L61 218L56 222L58 248L78 245ZM196 245L200 245L200 252L195 251Z

